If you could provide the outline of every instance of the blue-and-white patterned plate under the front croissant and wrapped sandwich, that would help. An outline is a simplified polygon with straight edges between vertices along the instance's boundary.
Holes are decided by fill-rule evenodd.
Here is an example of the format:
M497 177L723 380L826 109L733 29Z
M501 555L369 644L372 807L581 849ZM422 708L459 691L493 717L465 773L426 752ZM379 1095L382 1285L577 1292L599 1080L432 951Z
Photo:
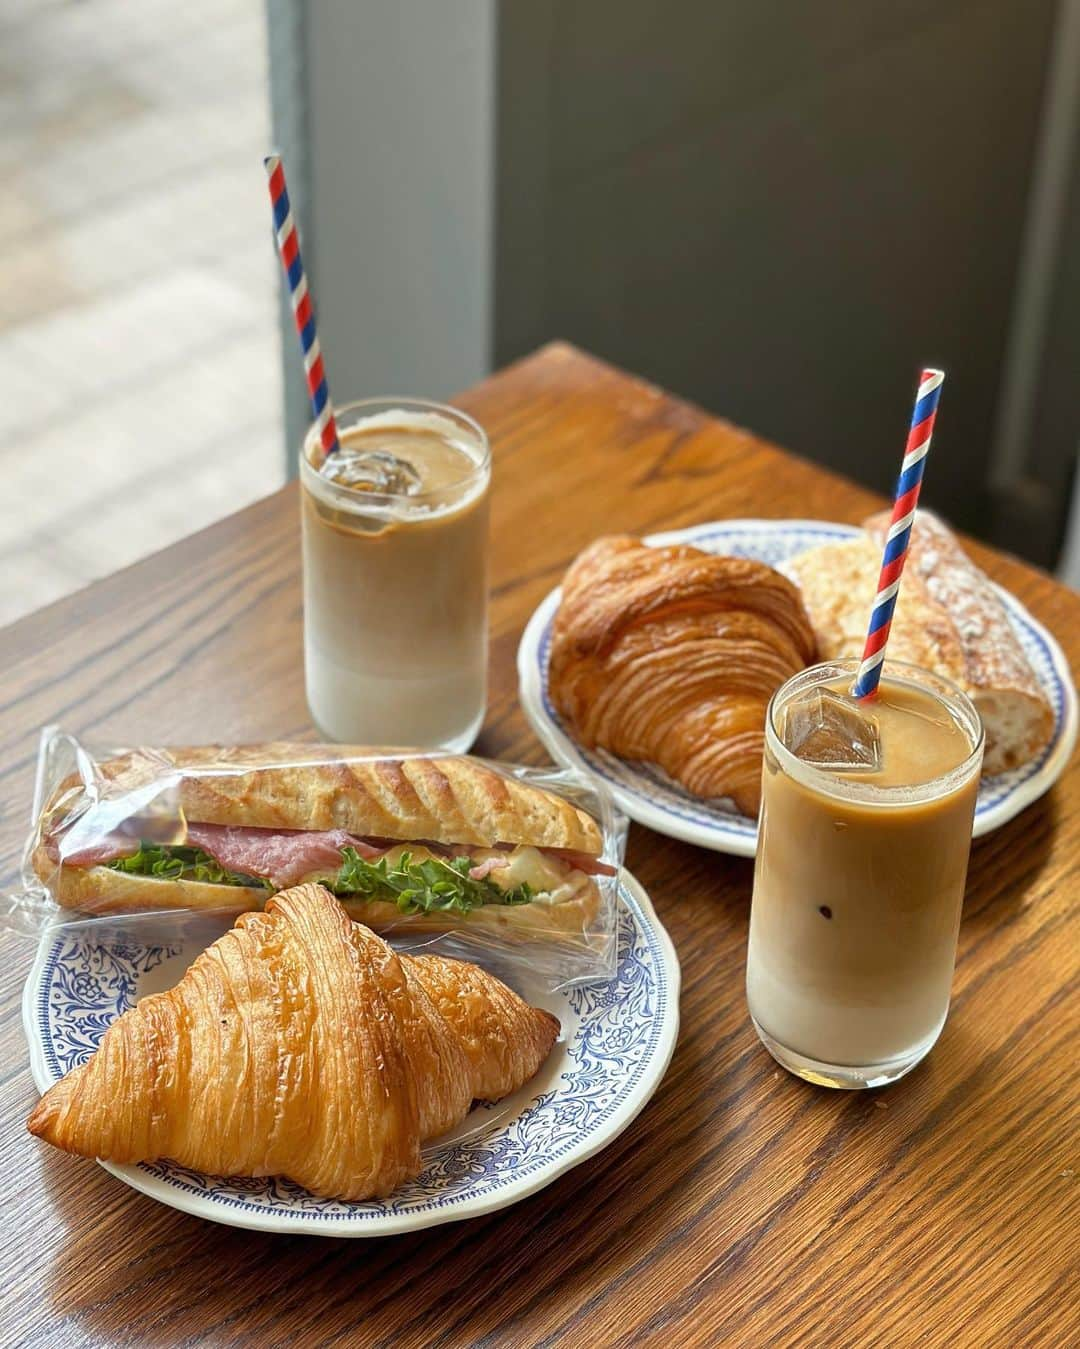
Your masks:
M174 1209L267 1232L386 1236L523 1199L622 1133L655 1091L676 1047L674 947L628 871L619 896L615 978L558 993L514 981L562 1024L547 1062L515 1095L475 1109L458 1129L426 1147L422 1174L388 1199L320 1199L287 1180L227 1180L171 1163L101 1164ZM177 924L169 944L144 946L100 923L46 932L23 994L38 1089L85 1063L108 1025L139 997L171 987L213 935L205 924L186 935Z

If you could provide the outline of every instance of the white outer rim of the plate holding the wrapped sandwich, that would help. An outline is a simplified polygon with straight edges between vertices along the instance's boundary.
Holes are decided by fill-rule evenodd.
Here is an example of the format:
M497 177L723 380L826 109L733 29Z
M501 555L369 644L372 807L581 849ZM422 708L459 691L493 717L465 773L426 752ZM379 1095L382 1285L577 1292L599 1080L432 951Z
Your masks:
M101 1160L98 1160L98 1166L133 1190L158 1199L169 1207L227 1226L282 1234L379 1237L481 1217L516 1203L542 1190L612 1143L651 1099L671 1062L680 1029L681 970L678 956L667 931L657 917L649 893L626 867L620 876L620 905L630 913L636 931L644 938L653 958L651 965L657 971L657 986L662 996L657 1000L654 1009L657 1018L655 1043L638 1064L636 1074L630 1074L626 1094L612 1105L611 1112L599 1120L584 1139L568 1144L557 1156L534 1163L534 1167L522 1176L514 1178L511 1175L504 1184L491 1187L484 1193L458 1193L446 1202L434 1201L426 1207L418 1206L382 1214L371 1210L361 1214L320 1213L318 1210L290 1214L289 1210L280 1209L260 1211L253 1205L239 1207L228 1197L214 1199L212 1194L193 1186L163 1179L147 1167L119 1166ZM50 1087L58 1077L58 1072L50 1068L46 1062L44 1040L40 1032L40 1017L43 1016L40 1001L47 989L44 981L57 936L55 928L42 935L34 965L23 987L23 1032L30 1047L31 1075L39 1091Z

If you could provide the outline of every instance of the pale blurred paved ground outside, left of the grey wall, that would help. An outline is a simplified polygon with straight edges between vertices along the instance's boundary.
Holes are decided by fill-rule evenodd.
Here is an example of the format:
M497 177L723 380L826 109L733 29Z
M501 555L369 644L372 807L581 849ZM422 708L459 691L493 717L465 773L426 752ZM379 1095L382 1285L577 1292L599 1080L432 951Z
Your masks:
M262 0L0 0L0 108L7 622L284 480Z

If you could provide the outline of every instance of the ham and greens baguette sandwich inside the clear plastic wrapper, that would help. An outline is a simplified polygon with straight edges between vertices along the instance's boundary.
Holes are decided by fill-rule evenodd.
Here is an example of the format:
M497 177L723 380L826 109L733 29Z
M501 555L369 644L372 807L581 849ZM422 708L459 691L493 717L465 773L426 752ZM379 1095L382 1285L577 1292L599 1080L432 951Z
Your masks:
M86 913L251 909L316 881L371 928L588 927L596 877L615 874L592 816L477 759L379 753L133 750L98 764L89 788L61 782L31 866Z

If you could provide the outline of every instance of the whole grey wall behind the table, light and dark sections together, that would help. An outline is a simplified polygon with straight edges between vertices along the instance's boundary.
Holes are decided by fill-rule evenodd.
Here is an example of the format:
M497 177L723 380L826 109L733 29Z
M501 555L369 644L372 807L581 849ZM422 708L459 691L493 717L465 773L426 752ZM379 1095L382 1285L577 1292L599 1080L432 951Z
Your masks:
M1080 117L1080 0L268 8L338 402L568 337L887 491L941 364L926 499L1053 564L1080 175L1046 128Z

